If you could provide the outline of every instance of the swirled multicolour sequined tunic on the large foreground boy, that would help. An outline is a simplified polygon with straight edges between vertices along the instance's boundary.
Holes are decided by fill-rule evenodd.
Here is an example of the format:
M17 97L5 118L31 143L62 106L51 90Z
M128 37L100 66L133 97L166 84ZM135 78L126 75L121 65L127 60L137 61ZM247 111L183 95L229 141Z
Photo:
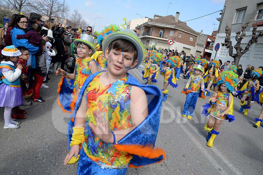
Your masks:
M120 152L113 144L105 143L94 134L88 122L96 125L93 111L102 114L110 130L123 130L132 126L130 113L131 85L124 84L128 75L114 83L103 86L97 74L86 88L86 125L82 144L86 155L99 164L122 166L128 164L132 155Z

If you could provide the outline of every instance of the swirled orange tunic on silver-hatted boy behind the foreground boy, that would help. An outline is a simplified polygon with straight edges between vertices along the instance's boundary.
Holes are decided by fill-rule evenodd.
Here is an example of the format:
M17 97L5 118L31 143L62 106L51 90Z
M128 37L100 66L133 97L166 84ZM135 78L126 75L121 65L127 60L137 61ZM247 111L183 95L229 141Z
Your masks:
M89 62L91 60L93 60L91 57L84 58L84 59L81 59L80 57L78 57L76 59L75 78L74 78L74 83L73 83L72 97L76 97L77 90L82 87L86 78L89 75L91 75L91 71L89 68Z

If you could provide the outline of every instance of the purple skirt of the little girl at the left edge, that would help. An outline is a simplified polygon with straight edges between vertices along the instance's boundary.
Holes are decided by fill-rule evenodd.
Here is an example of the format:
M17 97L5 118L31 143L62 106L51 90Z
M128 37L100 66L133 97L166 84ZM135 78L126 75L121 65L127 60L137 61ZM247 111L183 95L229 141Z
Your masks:
M23 104L21 87L11 87L2 83L0 85L0 107L15 107Z

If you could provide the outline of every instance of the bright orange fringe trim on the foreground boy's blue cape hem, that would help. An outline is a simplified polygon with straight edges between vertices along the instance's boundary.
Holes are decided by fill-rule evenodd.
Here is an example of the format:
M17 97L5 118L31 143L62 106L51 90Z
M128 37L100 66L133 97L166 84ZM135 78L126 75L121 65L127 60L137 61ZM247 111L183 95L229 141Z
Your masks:
M148 157L150 159L159 157L160 155L162 155L162 160L160 160L159 162L156 163L160 163L162 162L166 155L165 152L162 148L153 148L153 145L149 145L149 146L142 146L142 145L120 145L120 144L115 144L114 147L119 150L119 151L124 151L127 152L129 154L135 154L138 155L140 157ZM138 167L142 167L145 165L141 165ZM137 168L137 166L134 166L132 164L129 165L130 168Z

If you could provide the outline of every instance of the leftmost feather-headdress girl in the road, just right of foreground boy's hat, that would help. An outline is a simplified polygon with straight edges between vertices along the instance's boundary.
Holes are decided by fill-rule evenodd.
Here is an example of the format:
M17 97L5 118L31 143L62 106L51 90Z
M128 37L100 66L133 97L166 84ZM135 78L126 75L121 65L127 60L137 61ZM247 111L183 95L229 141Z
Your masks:
M147 82L145 84L150 85L151 83L156 83L156 77L159 73L159 67L158 63L161 60L162 55L160 53L157 53L156 50L153 51L150 55L150 60L147 64L147 66L142 71L143 74L143 80L147 79Z

